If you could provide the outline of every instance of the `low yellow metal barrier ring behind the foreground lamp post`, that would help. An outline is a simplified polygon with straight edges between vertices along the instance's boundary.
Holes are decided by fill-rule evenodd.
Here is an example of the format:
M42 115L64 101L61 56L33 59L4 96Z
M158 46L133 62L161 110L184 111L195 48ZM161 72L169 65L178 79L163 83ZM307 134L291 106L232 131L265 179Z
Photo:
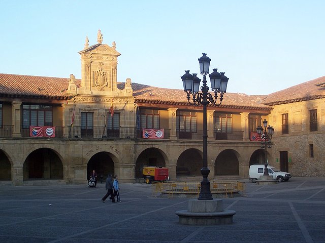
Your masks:
M199 196L201 182L196 181L177 181L177 182L155 182L152 183L152 195L166 194L168 198L174 195L185 197ZM210 190L213 197L233 197L234 193L242 192L245 194L246 184L239 181L210 181ZM216 195L217 194L217 195Z

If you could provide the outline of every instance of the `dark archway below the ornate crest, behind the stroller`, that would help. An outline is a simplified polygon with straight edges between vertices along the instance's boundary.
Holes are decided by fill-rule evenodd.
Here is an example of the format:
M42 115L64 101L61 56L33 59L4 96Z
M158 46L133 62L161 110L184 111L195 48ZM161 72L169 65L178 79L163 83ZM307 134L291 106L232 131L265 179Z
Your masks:
M112 156L113 154L109 152L94 154L87 164L87 179L90 179L90 174L93 170L97 173L97 183L105 182L108 174L114 176L115 167Z

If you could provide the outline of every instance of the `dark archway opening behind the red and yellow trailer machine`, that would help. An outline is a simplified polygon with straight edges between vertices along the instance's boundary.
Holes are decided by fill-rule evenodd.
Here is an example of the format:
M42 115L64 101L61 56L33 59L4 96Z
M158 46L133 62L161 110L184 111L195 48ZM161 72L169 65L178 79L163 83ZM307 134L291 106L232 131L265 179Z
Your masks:
M143 178L142 169L145 166L166 167L166 154L158 148L143 150L136 161L136 178Z

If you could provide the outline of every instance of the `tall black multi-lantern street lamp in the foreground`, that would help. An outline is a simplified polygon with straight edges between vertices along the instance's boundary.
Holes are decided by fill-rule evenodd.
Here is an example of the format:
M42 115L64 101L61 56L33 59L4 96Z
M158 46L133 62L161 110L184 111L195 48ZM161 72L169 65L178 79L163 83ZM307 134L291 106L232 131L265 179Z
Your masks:
M185 74L181 76L181 78L189 104L193 106L203 105L203 168L201 169L203 179L201 181L201 189L198 199L212 200L213 197L210 190L210 181L208 179L210 170L208 168L207 105L221 105L223 94L226 91L229 78L224 76L224 72L218 73L217 68L213 69L213 72L209 75L209 77L211 89L214 95L210 93L209 87L207 87L206 77L209 73L211 59L207 57L206 53L202 54L203 56L199 58L200 71L203 75L203 86L201 86L201 92L199 92L201 79L197 77L197 73L190 74L189 70L185 70ZM218 95L220 95L219 98Z

